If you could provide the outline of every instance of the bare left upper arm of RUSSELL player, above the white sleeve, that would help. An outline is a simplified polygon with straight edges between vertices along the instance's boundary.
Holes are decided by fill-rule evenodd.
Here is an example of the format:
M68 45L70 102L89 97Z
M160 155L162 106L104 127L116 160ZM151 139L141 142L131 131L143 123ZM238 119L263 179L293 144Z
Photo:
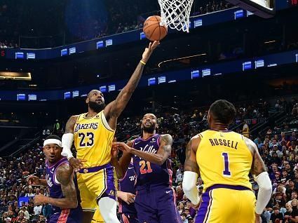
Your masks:
M191 171L199 173L198 163L196 161L196 149L198 148L198 144L201 142L201 138L196 135L189 140L186 149L186 159L184 163L184 171Z

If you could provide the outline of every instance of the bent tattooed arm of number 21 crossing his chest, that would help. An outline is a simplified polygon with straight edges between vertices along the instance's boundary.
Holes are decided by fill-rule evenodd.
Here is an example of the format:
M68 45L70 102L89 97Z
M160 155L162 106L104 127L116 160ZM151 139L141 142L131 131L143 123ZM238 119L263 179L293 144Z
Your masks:
M163 165L172 151L172 136L169 134L161 135L160 146L156 154L149 154L137 149L131 149L131 153L140 156L145 161Z

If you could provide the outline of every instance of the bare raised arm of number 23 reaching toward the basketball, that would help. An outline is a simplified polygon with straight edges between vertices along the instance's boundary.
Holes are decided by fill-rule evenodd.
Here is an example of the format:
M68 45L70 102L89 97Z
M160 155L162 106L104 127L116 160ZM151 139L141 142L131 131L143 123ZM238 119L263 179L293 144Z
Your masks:
M147 60L149 60L151 54L158 44L158 41L154 41L154 43L149 44L149 47L144 50L142 55L143 62L147 62ZM104 116L106 117L111 128L116 129L117 118L120 116L121 112L123 112L123 109L125 109L126 104L128 104L131 95L133 95L133 92L135 91L135 88L137 88L137 84L141 79L143 69L144 65L139 62L135 72L133 72L133 75L130 77L126 86L118 94L116 100L107 104L107 106L104 108Z

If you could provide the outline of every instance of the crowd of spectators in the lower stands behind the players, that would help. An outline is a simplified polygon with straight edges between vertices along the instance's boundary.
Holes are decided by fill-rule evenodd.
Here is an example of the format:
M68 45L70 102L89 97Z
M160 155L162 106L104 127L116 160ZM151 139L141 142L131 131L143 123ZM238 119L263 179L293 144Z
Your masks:
M264 222L269 222L270 219L275 222L278 218L284 219L285 222L291 222L291 217L298 216L298 132L293 128L284 128L286 125L289 126L290 122L296 123L297 127L297 116L292 115L292 111L296 107L297 100L294 97L289 101L280 98L271 107L266 100L236 103L237 118L232 127L238 132L241 132L243 123L248 123L248 120L252 119L267 119L271 112L285 112L286 120L289 122L283 123L281 126L269 126L269 130L264 135L250 135L266 163L273 187L271 201L262 215ZM160 111L156 113L159 125L158 133L168 133L173 137L172 154L170 155L173 186L177 196L177 208L184 223L194 222L196 214L182 189L185 148L191 137L208 128L207 111L208 107L195 109L193 112L177 112L175 110L175 112ZM117 138L126 140L132 135L140 134L140 117L119 121ZM252 122L248 124L250 128L252 125ZM62 126L59 121L55 121L51 131L62 134ZM46 137L48 134L50 131L46 130L42 137ZM39 143L31 149L23 151L22 154L0 158L0 222L42 223L46 222L50 216L50 205L34 206L32 201L36 194L48 195L48 189L28 186L25 180L30 174L45 178L42 137ZM257 184L253 178L251 182L252 189L257 194ZM198 189L202 193L203 182L201 179L198 180Z

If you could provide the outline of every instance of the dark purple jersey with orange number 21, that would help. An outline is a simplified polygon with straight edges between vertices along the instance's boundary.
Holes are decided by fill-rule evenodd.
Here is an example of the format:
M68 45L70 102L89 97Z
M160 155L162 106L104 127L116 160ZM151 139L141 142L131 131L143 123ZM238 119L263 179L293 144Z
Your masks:
M139 137L134 140L133 148L156 154L159 148L160 137L161 135L158 134L149 137L147 140L143 140ZM169 159L167 159L163 165L157 165L149 161L144 161L144 159L139 156L133 156L133 163L135 174L137 175L137 190L158 185L172 186L172 169Z

